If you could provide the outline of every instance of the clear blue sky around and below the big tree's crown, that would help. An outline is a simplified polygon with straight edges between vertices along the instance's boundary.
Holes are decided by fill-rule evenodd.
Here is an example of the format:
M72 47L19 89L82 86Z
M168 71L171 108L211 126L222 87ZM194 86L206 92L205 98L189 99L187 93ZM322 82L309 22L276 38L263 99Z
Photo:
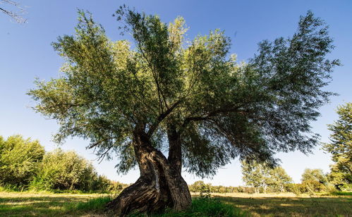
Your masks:
M255 54L257 43L262 39L289 37L296 30L298 18L308 10L323 18L330 26L336 49L331 58L339 58L344 66L336 68L333 81L327 89L339 94L332 97L330 104L320 110L322 116L312 123L313 131L322 135L322 142L328 141L327 124L336 119L335 109L339 104L352 101L352 1L20 1L28 6L28 23L20 25L0 13L0 135L14 134L40 140L45 149L57 147L51 142L51 135L58 125L46 120L30 109L34 101L25 93L34 87L35 77L48 80L57 77L62 59L51 47L59 35L73 34L77 20L77 8L93 13L107 35L113 40L122 39L118 23L111 15L121 4L135 6L138 11L158 14L164 22L176 16L186 19L190 30L188 37L205 35L209 30L220 28L232 39L231 52L238 54L240 61L246 61ZM5 5L1 5L5 6ZM74 138L67 140L62 149L73 149L85 158L96 156L86 150L87 141ZM329 154L320 147L313 154L305 156L299 152L277 154L281 165L293 180L299 182L305 168L322 168L329 171ZM117 175L116 161L93 161L99 173L121 182L134 182L138 171ZM183 173L188 183L199 178ZM237 160L221 169L212 180L214 185L241 185L241 166Z

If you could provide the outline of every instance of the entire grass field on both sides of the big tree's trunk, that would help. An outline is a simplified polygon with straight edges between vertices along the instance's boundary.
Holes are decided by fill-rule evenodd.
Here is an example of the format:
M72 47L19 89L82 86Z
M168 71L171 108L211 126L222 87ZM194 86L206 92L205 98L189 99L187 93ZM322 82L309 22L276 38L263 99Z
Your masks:
M104 216L104 206L111 198L108 194L0 192L0 216ZM352 216L352 197L351 193L329 197L195 197L187 211L152 216Z

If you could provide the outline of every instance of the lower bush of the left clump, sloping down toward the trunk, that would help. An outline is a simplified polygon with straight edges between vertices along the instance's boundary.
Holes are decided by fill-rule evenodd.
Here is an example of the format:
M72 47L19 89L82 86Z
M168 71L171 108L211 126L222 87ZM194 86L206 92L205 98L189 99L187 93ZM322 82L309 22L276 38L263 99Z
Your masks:
M56 149L44 155L30 190L107 191L111 181L97 175L92 163L74 151Z

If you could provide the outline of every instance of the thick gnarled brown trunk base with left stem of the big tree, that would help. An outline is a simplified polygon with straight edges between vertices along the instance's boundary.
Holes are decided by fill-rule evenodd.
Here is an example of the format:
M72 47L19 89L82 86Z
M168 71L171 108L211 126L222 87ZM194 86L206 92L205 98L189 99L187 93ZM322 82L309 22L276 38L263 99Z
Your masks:
M140 178L107 205L117 216L128 213L152 213L170 207L187 209L191 198L178 167L152 147L144 130L135 130L133 148L140 168Z

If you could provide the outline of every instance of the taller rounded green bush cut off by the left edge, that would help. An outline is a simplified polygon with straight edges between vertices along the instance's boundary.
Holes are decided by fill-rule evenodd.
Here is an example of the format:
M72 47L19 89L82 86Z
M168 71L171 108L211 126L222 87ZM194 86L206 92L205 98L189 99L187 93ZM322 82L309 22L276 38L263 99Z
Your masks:
M30 138L0 136L0 185L27 187L42 161L44 148Z

